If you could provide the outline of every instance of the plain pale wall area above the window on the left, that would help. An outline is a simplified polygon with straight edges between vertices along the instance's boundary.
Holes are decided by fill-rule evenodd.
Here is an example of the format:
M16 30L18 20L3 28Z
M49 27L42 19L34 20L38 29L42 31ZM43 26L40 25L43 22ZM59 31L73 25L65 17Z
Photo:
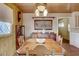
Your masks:
M13 23L13 10L4 4L0 4L0 21Z

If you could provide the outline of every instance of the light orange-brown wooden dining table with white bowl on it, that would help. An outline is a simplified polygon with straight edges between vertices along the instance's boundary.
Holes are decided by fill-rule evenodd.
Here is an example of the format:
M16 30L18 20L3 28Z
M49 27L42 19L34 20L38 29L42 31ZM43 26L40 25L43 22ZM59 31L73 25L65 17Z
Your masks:
M26 54L26 48L28 48L28 50L30 51L29 53L35 53L32 51L34 51L34 48L37 47L38 45L45 46L48 49L49 54L51 53L52 49L55 49L55 52L58 54L62 53L62 46L59 45L53 39L45 39L44 44L39 44L36 39L37 38L31 38L31 39L26 40L22 44L22 46L17 50L17 53L18 54Z

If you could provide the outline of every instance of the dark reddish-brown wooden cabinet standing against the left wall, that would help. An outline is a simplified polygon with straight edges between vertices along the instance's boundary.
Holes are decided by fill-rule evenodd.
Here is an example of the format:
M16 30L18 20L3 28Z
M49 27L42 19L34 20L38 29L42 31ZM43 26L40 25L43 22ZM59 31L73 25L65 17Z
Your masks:
M16 49L25 41L25 26L16 25Z

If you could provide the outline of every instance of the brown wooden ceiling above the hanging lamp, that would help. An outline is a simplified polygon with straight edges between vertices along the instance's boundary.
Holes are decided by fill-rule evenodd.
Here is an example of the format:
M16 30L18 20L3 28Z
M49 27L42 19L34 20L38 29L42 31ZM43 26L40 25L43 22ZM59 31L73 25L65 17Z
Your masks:
M34 13L36 3L16 3L15 4L24 13ZM49 13L71 13L79 11L79 3L46 3Z

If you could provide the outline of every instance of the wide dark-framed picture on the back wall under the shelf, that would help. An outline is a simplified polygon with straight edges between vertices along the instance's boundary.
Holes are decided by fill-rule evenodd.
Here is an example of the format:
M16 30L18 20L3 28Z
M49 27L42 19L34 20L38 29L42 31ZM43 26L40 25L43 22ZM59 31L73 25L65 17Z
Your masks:
M52 20L34 20L35 30L52 30Z

